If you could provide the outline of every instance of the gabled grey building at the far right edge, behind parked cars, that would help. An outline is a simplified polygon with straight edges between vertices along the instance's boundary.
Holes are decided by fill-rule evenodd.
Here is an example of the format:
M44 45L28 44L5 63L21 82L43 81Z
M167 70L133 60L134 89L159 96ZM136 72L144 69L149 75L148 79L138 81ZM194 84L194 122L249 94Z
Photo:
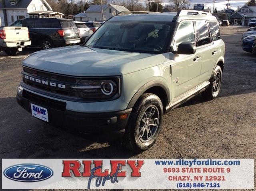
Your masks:
M252 18L256 18L256 6L248 6L245 4L230 15L230 22L232 24L248 26L249 20Z

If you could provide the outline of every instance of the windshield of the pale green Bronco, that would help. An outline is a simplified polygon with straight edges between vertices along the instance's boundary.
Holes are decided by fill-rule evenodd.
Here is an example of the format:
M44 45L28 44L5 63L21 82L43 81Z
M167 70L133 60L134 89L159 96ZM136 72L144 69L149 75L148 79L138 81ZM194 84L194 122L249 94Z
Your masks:
M160 53L168 42L169 32L170 26L162 22L110 21L98 28L85 46L130 52Z

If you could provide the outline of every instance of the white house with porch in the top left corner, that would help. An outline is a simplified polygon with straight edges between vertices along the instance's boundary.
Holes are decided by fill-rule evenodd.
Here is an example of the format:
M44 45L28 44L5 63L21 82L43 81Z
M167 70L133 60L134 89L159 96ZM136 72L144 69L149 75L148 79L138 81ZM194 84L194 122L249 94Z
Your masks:
M62 17L62 13L52 11L46 0L1 0L0 26L9 26L24 18Z

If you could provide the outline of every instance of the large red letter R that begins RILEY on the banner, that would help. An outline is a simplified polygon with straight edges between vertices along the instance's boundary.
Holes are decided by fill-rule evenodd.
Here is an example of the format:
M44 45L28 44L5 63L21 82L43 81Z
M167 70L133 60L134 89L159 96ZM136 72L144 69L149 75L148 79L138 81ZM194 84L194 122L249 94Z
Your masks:
M71 177L71 171L73 172L74 176L76 177L81 176L81 172L79 171L81 164L79 161L63 160L62 164L63 164L62 177Z

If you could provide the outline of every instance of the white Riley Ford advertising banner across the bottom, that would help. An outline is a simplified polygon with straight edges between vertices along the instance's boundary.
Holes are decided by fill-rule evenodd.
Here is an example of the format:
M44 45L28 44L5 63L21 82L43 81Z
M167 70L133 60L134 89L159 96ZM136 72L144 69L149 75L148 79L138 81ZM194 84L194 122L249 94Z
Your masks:
M2 159L2 189L254 189L254 159Z

